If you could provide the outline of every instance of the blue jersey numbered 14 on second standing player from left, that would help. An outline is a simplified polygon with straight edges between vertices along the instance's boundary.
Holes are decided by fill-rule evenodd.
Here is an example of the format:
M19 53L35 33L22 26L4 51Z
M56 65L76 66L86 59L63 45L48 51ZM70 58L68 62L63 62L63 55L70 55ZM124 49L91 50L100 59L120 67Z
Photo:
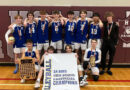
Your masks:
M27 27L25 29L25 37L27 39L32 39L34 46L36 46L37 43L37 25L36 22L33 22L32 24L27 24Z

